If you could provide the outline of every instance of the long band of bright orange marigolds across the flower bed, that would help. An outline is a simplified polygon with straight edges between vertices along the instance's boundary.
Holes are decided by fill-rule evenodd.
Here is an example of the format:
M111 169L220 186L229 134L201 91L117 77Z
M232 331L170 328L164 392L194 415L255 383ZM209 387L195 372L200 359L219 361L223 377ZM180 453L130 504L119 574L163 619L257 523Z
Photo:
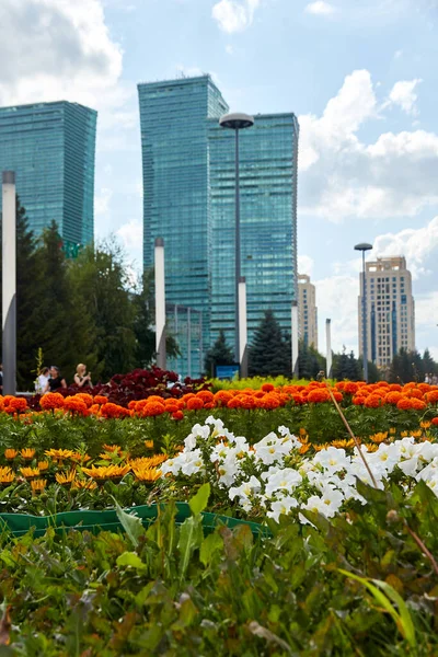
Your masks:
M401 411L423 411L428 405L438 405L438 387L428 383L407 383L406 385L390 384L384 381L366 384L353 381L341 381L331 389L337 402L353 403L367 408L378 408L384 405L396 406ZM102 418L123 417L155 417L169 414L172 419L183 419L187 411L212 410L217 407L243 408L252 411L263 408L270 411L286 404L321 404L331 402L332 397L326 383L311 382L308 385L283 385L275 388L264 383L260 390L219 390L216 393L203 390L187 393L181 399L164 399L151 395L139 401L131 401L128 407L119 406L108 401L104 395L78 393L64 397L54 392L41 399L43 412L70 413L73 415L94 415ZM33 422L27 402L23 397L0 396L0 411L15 416L26 413L26 422ZM435 418L436 419L436 418ZM433 420L438 425L438 419Z

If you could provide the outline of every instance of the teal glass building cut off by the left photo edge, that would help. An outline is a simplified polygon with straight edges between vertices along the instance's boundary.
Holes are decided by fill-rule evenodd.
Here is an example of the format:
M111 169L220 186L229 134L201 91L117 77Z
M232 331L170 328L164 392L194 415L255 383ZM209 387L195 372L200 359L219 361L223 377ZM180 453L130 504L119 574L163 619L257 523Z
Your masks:
M92 241L96 117L66 101L0 107L0 170L15 172L35 234L55 220L66 244Z

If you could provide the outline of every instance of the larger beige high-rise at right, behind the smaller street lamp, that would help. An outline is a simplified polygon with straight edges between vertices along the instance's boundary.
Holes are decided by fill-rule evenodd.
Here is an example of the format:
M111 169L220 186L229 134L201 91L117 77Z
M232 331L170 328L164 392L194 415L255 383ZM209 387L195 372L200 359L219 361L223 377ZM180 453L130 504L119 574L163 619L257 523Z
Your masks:
M378 367L388 367L401 348L415 349L415 303L406 260L378 257L366 263L368 357ZM364 353L364 276L360 274L359 351Z

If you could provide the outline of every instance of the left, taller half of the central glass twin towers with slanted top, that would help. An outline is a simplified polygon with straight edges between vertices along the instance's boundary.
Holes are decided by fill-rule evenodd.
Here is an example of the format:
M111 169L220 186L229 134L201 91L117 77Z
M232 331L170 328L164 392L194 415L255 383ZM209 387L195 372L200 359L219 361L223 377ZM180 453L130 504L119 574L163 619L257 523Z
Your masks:
M139 84L138 93L143 263L153 266L154 240L163 238L168 322L182 351L169 366L197 376L199 344L209 345L211 296L207 118L217 122L228 106L209 76Z

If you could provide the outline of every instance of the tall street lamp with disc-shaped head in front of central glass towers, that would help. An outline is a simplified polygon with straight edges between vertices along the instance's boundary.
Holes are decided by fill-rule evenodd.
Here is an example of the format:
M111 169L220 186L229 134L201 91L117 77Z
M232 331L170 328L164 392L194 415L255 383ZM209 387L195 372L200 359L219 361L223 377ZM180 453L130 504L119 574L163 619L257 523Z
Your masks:
M244 128L251 128L254 125L254 118L247 114L234 113L226 114L219 119L221 128L229 128L235 132L235 318L234 318L234 332L235 332L235 361L244 367L244 362L241 362L240 353L240 337L239 337L239 281L241 278L240 272L240 172L239 172L239 131ZM246 372L241 371L242 376Z

